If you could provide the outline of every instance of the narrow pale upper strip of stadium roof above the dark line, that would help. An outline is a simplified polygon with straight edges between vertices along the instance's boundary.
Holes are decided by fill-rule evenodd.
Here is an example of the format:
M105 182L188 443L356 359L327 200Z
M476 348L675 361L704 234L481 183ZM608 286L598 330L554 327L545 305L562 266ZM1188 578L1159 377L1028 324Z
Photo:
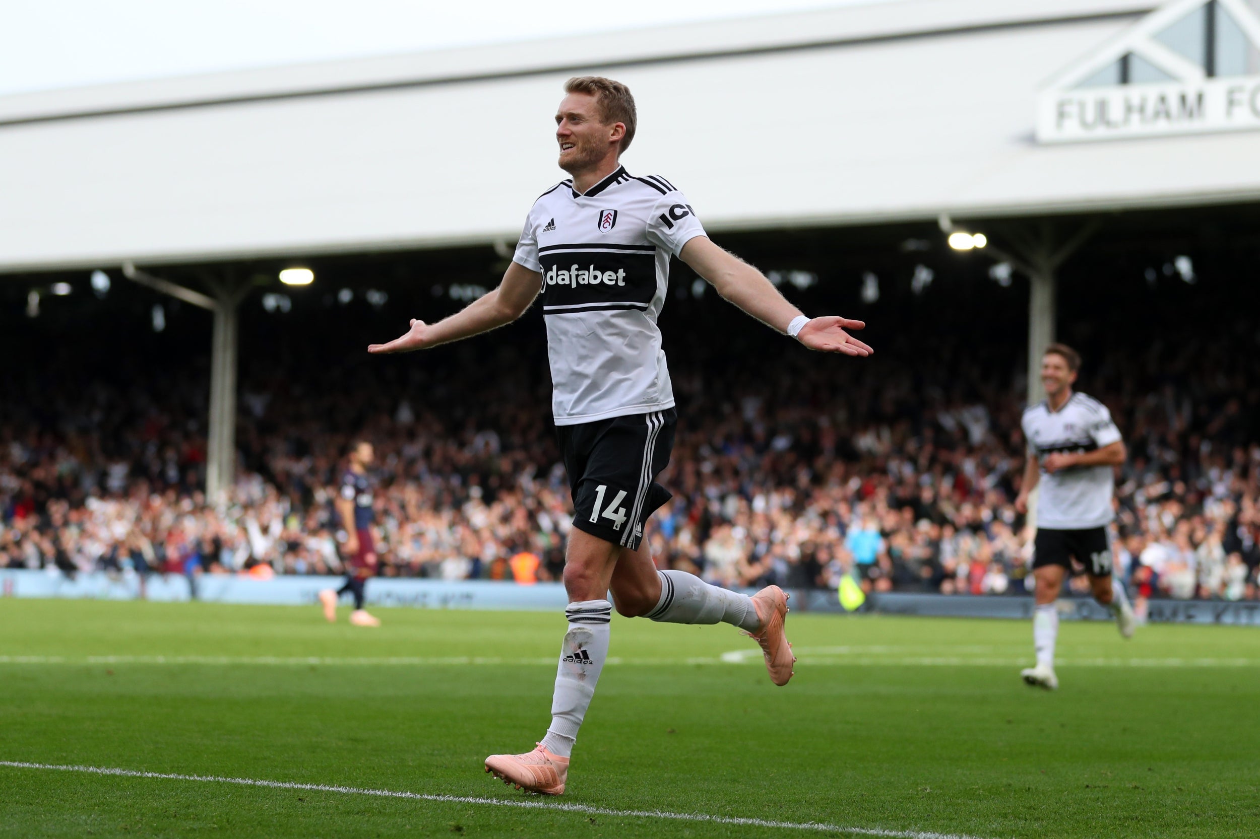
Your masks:
M1137 15L1150 11L1157 3L897 0L823 11L42 91L0 97L0 126Z

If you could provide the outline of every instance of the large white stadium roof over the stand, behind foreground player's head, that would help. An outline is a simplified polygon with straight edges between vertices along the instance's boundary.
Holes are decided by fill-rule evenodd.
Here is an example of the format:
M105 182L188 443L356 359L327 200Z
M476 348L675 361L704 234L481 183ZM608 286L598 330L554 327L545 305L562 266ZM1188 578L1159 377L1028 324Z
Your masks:
M1038 97L1193 3L901 0L0 97L0 272L514 241L582 72L630 84L624 163L713 231L1254 200L1246 131L1038 142Z

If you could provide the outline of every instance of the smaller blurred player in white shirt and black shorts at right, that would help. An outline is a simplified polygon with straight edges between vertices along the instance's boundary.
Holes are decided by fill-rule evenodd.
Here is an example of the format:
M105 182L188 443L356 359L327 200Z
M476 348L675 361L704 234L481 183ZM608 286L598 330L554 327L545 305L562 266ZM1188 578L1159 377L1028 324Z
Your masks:
M1046 401L1024 409L1028 460L1016 509L1028 510L1028 494L1040 486L1033 574L1037 578L1032 619L1037 665L1021 671L1023 680L1047 690L1058 688L1055 640L1058 611L1055 601L1072 559L1085 566L1094 600L1115 616L1120 635L1133 637L1133 610L1111 578L1113 467L1124 462L1124 442L1111 413L1097 399L1076 393L1072 384L1081 357L1070 346L1051 344L1041 359Z

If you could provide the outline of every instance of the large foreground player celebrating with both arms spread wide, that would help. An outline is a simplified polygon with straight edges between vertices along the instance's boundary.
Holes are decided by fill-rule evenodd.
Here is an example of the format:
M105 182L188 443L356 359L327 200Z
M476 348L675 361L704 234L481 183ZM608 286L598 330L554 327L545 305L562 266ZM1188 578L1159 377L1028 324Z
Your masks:
M485 761L508 784L564 791L578 727L609 654L612 606L627 617L670 624L726 622L760 644L775 684L793 675L784 635L786 596L769 586L752 597L680 571L656 571L640 547L648 517L670 494L654 482L674 442L674 392L656 317L669 260L679 257L726 300L810 349L866 357L871 348L844 317L809 319L752 266L713 244L672 183L635 178L619 164L635 132L635 106L621 83L571 78L556 113L559 166L572 175L534 203L498 288L437 322L372 353L401 353L503 326L542 296L557 436L573 493L564 558L568 631L552 698L552 723L523 755ZM611 591L612 602L607 597Z

